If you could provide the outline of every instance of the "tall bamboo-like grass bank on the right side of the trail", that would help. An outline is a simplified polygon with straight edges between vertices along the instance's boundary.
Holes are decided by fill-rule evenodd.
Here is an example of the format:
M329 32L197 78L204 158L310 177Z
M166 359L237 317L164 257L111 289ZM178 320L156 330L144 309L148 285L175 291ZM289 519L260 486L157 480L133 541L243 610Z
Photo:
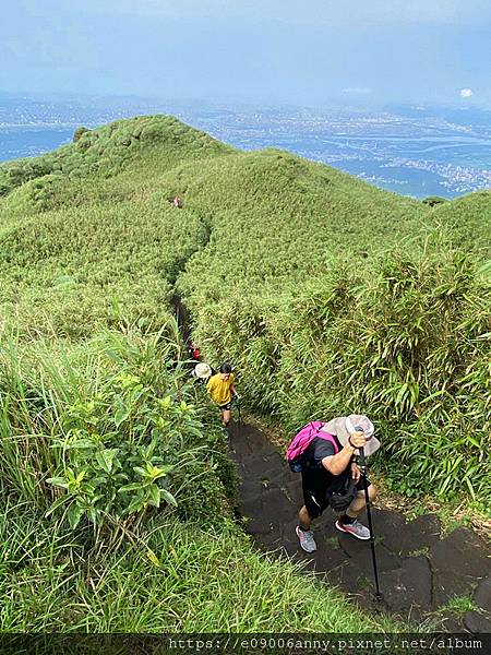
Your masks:
M334 263L283 293L243 287L205 302L199 279L185 284L195 340L212 361L235 362L251 407L291 431L363 412L399 490L484 507L491 288L478 269L434 235L420 253L395 249L363 269Z

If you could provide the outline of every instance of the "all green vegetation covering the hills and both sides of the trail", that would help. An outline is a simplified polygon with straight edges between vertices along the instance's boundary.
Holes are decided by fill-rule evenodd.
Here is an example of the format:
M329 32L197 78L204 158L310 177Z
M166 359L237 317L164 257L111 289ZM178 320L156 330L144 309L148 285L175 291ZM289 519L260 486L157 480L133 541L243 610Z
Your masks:
M251 549L169 303L251 412L364 412L395 488L489 505L491 194L137 117L1 165L0 195L2 628L394 630Z

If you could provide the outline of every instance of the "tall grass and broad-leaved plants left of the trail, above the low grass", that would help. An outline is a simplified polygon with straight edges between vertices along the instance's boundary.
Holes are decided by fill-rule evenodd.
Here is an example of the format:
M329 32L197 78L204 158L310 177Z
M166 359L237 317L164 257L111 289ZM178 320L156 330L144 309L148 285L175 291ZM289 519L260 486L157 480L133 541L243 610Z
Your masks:
M72 528L82 519L139 524L152 507L176 504L219 520L230 467L180 355L175 321L146 335L99 333L70 356L37 344L22 360L10 342L0 366L4 493L63 512Z

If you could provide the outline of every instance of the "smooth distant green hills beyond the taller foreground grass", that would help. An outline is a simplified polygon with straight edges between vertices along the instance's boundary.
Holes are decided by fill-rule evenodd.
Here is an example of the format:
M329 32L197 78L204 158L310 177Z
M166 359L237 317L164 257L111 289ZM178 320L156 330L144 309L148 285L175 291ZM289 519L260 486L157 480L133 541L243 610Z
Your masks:
M336 251L368 253L428 214L287 153L233 151L172 117L117 121L4 164L0 188L0 312L74 336L112 324L119 307L130 320L152 314L197 250L196 271L221 266L219 284L244 266L260 282L322 269Z

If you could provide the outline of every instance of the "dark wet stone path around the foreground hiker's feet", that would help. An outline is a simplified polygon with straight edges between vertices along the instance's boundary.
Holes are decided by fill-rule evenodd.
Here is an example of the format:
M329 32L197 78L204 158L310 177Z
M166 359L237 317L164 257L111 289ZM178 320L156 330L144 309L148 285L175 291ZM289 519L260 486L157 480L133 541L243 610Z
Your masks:
M314 523L316 552L304 552L295 533L303 504L300 474L291 473L283 453L252 426L231 425L229 450L241 478L238 510L260 549L304 562L323 583L338 585L371 611L418 622L431 618L453 632L491 632L491 558L484 539L465 527L442 537L434 514L407 522L400 513L373 508L383 593L378 604L370 541L339 533L327 510ZM453 597L472 599L477 609L442 610Z

